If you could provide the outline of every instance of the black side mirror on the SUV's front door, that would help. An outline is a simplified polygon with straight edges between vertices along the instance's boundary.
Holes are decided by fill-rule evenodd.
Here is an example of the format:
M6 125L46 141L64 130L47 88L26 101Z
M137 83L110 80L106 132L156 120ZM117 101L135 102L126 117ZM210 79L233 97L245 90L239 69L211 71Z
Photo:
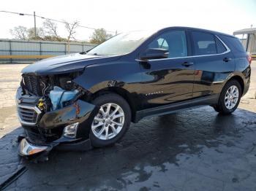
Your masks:
M162 48L149 48L141 56L141 60L168 58L169 51Z

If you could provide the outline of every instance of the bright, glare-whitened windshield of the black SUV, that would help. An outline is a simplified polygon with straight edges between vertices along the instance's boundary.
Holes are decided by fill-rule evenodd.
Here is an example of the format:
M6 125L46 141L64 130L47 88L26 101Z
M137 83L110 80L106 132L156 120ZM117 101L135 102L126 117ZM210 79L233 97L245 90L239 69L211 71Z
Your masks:
M87 52L87 55L124 55L135 50L148 36L149 31L118 34Z

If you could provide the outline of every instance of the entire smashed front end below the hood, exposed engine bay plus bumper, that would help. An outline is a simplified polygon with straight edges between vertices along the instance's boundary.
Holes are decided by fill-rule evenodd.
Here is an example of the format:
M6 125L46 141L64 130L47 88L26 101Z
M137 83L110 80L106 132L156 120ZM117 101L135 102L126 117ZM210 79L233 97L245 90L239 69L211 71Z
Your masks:
M89 127L97 108L88 102L89 92L72 81L79 75L23 74L16 94L18 119L26 133L20 141L21 156L37 156L56 146L83 144L90 149Z

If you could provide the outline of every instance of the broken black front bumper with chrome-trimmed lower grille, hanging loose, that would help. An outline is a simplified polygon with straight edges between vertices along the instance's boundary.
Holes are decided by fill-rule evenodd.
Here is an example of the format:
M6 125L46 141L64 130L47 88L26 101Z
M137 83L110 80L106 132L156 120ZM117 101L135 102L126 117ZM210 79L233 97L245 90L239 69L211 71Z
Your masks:
M21 156L49 152L57 145L71 149L72 144L78 147L83 143L91 147L89 132L96 106L78 100L64 108L43 112L37 107L38 99L22 95L21 88L16 94L18 118L26 130L26 137L20 141Z

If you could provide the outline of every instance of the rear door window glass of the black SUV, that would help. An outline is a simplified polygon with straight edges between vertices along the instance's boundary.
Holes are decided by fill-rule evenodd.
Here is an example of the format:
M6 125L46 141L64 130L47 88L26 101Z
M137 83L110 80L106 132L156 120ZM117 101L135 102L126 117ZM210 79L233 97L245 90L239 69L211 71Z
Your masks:
M213 55L217 54L217 44L212 34L192 31L194 42L194 55Z

